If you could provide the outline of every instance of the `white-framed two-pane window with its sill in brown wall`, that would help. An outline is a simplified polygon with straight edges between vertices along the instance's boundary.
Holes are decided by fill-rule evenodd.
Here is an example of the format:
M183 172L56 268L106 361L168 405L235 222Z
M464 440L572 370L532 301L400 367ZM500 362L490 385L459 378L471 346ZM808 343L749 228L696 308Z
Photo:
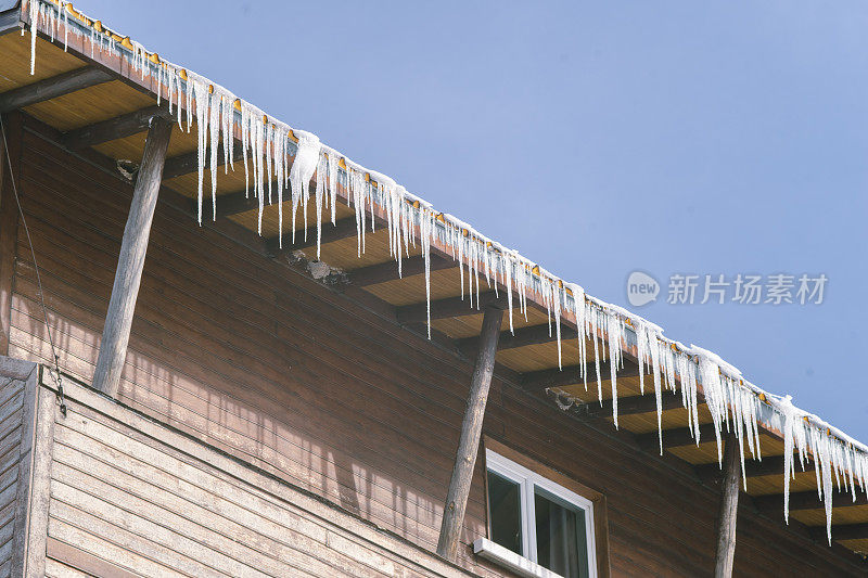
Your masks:
M593 502L486 449L488 540L474 551L524 576L596 577Z

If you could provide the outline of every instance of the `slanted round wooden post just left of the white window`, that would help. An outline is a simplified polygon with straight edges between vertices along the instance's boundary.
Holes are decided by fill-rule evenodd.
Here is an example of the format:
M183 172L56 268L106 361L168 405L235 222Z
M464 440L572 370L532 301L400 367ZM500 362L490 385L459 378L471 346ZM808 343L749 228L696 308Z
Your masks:
M458 454L455 459L452 478L449 481L449 492L446 494L441 537L437 541L437 554L449 561L456 558L461 527L464 524L464 510L468 505L470 483L473 478L473 467L476 464L476 453L480 449L485 402L488 400L488 387L492 385L492 373L495 370L495 354L502 320L502 309L496 306L486 307L480 335L480 352L473 370L468 408L461 425Z

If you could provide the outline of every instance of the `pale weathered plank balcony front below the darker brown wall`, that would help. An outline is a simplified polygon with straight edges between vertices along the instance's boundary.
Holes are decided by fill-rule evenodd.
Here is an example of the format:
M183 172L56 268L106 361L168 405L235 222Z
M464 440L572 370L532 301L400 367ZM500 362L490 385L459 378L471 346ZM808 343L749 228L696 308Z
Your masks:
M48 573L469 576L315 496L67 385L51 468Z

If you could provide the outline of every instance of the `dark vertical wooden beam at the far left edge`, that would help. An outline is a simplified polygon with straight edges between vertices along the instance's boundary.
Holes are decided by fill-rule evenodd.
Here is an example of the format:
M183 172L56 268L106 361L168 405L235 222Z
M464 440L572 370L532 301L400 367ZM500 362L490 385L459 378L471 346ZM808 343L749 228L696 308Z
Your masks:
M21 176L22 117L2 115L0 139L0 355L9 354L12 325L12 287L18 244L18 205L15 188ZM4 144L9 147L5 149ZM12 171L10 171L10 165Z

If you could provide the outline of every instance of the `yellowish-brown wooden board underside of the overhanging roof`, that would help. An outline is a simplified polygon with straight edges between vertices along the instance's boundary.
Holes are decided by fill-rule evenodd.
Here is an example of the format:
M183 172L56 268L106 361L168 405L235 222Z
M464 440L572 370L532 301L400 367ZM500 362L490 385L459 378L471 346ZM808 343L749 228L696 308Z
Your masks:
M0 2L2 8L3 2ZM17 20L17 18L16 18ZM74 151L99 153L103 157L116 160L138 163L142 157L146 125L133 123L136 113L149 110L157 104L150 82L138 82L136 74L118 74L118 66L101 59L99 52L91 59L90 50L85 50L86 38L71 44L64 51L63 37L52 42L43 36L36 42L35 74L30 74L30 38L29 34L4 34L0 37L0 101L10 91L22 89L40 81L69 75L74 70L107 72L105 78L95 76L90 81L73 85L76 89L34 102L22 107L23 112L48 125L56 131L58 140ZM48 30L44 30L48 31ZM108 57L106 57L108 60ZM79 75L84 76L84 75ZM132 116L131 116L132 115ZM194 124L195 125L195 124ZM188 133L174 125L169 143L168 160L162 195L174 195L173 198L187 205L194 226L195 203L199 180L195 163L197 152L196 128ZM193 160L191 162L191 157ZM111 166L106 163L106 166ZM219 170L217 181L218 224L220 221L233 221L237 226L257 232L259 211L256 201L244 198L244 170L235 165L235 170L224 174ZM205 174L205 190L210 191L209 176ZM284 211L289 213L289 202L284 203ZM205 214L209 215L206 203ZM316 213L308 210L307 240L304 235L304 223L296 226L296 243L276 249L278 232L278 207L266 206L263 214L261 235L264 242L259 251L270 252L275 259L286 261L298 258L303 252L307 259L316 259ZM424 316L420 310L425 308L425 279L418 251L406 258L403 264L404 277L398 278L395 259L390 252L388 232L380 223L375 233L366 236L366 251L358 256L355 210L350 206L339 203L336 207L337 226L331 224L330 211L323 214L322 244L320 260L344 274L333 274L330 281L345 284L352 291L346 294L356 296L366 304L374 304L388 311L397 322L411 331L424 332ZM213 224L206 226L213 227ZM284 223L284 227L289 224ZM286 232L284 230L284 232ZM464 271L464 293L467 292L467 270ZM439 343L454 349L458 355L472 359L474 338L478 336L482 325L482 312L468 307L467 303L456 303L462 295L461 270L458 261L446 255L432 257L431 301L433 336ZM482 293L488 290L485 281ZM498 374L505 380L534 395L550 398L549 388L559 388L587 406L574 404L571 412L583 420L612 422L611 388L603 380L602 411L598 401L596 375L591 372L587 389L579 374L566 368L559 371L559 345L549 331L549 316L541 304L531 303L524 313L518 308L513 310L514 334L510 334L509 320L505 316L502 338L497 354ZM571 329L572 327L572 329ZM575 365L579 362L579 347L575 325L564 324L562 342L563 364ZM593 344L587 341L585 350L589 361L593 363ZM646 389L650 395L641 396L638 377L638 364L627 348L625 367L617 378L618 425L622 431L633 435L633 439L649 451L650 459L658 454L658 416L653 387L648 387L651 378L646 378ZM589 365L589 367L591 367ZM647 368L646 368L647 369ZM608 370L605 372L608 375ZM605 376L605 375L604 375ZM712 414L704 398L700 397L699 418L705 427L702 429L702 442L694 444L688 424L688 410L681 404L680 393L664 395L662 414L665 459L677 459L689 464L698 478L698 483L713 484L718 471L717 447L713 429L709 433ZM783 478L782 455L784 442L778 432L765 427L760 432L762 462L751 461L748 464L748 493L752 497L757 510L783 522ZM746 450L745 450L746 451ZM793 531L803 532L819 542L826 541L826 515L824 505L817 497L817 479L808 462L808 471L802 472L796 465L796 474L791 485L790 517L800 524L791 524ZM853 502L850 493L834 497L832 537L842 545L860 553L868 553L868 501L864 492L857 492Z

